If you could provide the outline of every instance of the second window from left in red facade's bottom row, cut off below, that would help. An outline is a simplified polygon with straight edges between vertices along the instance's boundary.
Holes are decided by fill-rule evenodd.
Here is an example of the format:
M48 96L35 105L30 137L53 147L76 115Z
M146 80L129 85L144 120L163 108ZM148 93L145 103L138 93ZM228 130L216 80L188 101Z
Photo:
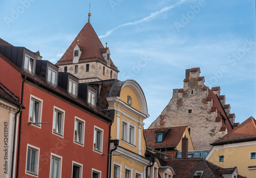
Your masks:
M60 178L61 177L61 163L62 157L51 153L51 172L50 178Z

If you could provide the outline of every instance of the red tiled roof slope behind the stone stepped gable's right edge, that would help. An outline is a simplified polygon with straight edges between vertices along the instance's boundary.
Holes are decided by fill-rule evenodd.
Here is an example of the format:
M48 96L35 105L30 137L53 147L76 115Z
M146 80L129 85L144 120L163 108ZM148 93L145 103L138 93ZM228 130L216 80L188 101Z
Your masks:
M214 94L214 92L212 92L210 89L208 89L209 93L208 93L208 97L212 97L212 99L214 100L212 102L212 108L217 108L218 110L218 116L217 117L224 117L226 119L225 123L224 120L222 120L222 128L227 128L227 132L232 131L233 126L231 125L228 117L226 116L225 111L222 108L222 105L219 101L218 96L216 96L216 94Z

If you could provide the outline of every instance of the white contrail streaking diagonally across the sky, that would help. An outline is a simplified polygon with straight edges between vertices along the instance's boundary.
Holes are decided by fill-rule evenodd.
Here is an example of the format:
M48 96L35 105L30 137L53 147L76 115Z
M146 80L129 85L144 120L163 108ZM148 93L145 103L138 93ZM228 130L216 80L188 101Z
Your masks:
M154 13L151 13L149 16L144 17L144 18L142 18L142 19L140 19L140 20L137 20L137 21L134 21L134 22L127 22L127 23L120 24L120 26L117 26L117 27L115 27L115 28L109 30L108 32L106 32L105 35L100 35L99 38L107 37L107 36L109 36L110 34L112 34L112 32L114 32L115 30L117 30L117 29L119 29L119 28L121 28L121 27L133 26L133 25L135 25L135 24L139 24L139 23L142 23L142 22L145 22L145 21L149 21L149 20L153 19L155 16L157 16L157 15L163 13L163 12L166 12L166 11L168 11L168 10L170 10L170 9L173 9L173 8L175 8L175 7L178 6L178 5L183 4L185 1L186 1L186 0L181 0L181 1L179 1L178 3L176 3L176 5L166 6L166 7L162 8L161 10L159 10L159 11L157 11L157 12L154 12Z

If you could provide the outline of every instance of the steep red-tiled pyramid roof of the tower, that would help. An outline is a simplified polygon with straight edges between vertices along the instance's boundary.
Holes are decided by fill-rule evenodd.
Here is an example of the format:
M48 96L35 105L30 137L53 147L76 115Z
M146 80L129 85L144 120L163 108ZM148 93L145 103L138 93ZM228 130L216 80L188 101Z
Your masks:
M77 41L79 40L79 41ZM73 49L78 44L79 48L82 50L79 63L98 61L106 65L106 62L102 56L102 52L108 50L104 47L94 31L90 22L87 22L82 30L79 32L77 37L71 43L67 51L63 54L56 65L67 65L73 63ZM114 65L110 58L110 67L119 72L117 67Z

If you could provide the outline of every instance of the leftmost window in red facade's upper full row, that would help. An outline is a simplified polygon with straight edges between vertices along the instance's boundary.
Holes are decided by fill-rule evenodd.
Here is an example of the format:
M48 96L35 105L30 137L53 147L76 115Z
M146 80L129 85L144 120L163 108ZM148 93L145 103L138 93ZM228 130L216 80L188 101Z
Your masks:
M42 100L31 95L29 108L29 122L41 122ZM34 125L34 124L33 124ZM40 126L37 124L37 126Z

